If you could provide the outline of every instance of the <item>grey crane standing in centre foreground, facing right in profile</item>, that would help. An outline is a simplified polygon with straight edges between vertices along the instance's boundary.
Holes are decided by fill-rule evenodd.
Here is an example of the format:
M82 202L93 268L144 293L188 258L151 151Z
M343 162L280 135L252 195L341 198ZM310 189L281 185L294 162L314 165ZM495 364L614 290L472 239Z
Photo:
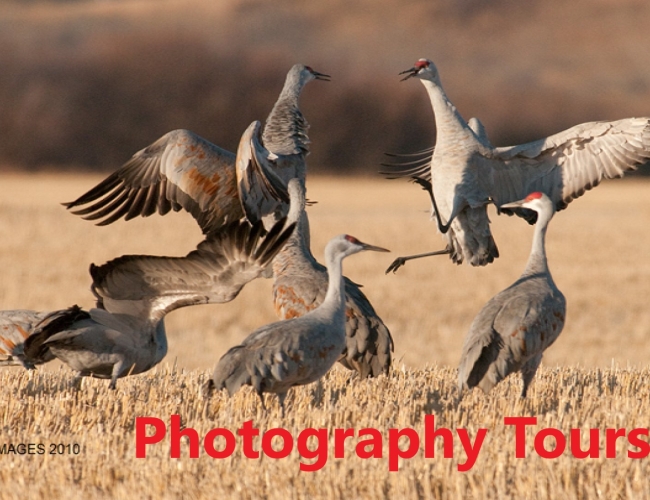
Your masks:
M231 348L217 363L204 392L225 388L232 396L250 385L263 407L262 393L276 393L284 414L289 389L320 379L341 357L346 310L342 261L363 250L388 251L346 234L330 240L325 247L329 283L323 302L303 316L258 328Z

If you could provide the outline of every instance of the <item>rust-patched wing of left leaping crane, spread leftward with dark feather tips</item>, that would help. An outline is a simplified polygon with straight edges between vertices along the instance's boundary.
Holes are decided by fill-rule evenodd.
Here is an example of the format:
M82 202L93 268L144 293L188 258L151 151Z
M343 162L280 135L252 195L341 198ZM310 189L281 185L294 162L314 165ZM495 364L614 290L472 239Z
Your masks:
M208 233L243 217L234 167L230 151L189 130L174 130L64 205L84 219L99 220L99 226L183 209Z

